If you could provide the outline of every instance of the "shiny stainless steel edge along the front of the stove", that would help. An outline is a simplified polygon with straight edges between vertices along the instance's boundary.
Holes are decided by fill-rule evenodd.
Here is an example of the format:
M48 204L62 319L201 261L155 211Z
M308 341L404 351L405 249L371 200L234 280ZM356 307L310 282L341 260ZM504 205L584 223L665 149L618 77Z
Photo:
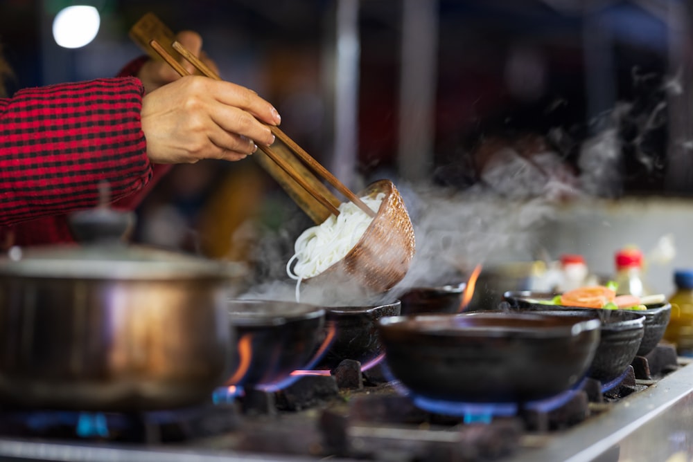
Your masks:
M268 444L271 444L268 441ZM677 459L680 456L681 459ZM693 459L693 363L565 432L527 434L498 462L676 462ZM143 447L0 438L2 461L315 462L304 456L202 447ZM347 459L331 459L335 462Z

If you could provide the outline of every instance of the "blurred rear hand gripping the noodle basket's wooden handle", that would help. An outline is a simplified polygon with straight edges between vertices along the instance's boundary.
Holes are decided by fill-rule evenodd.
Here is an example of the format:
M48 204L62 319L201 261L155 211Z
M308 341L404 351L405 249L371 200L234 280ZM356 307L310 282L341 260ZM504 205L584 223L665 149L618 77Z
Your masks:
M219 73L216 64L209 59L207 53L202 50L202 37L198 33L191 30L184 30L176 35L176 40L180 42L187 50L189 50L193 55L199 57L204 64L207 64L215 73ZM178 54L175 56L179 57L178 61L188 70L189 73L194 74L195 67L190 64L186 59L180 57ZM146 93L155 91L160 86L169 84L174 80L178 80L180 76L176 71L171 68L166 62L161 59L149 59L141 67L139 73L137 74L139 80L142 81Z

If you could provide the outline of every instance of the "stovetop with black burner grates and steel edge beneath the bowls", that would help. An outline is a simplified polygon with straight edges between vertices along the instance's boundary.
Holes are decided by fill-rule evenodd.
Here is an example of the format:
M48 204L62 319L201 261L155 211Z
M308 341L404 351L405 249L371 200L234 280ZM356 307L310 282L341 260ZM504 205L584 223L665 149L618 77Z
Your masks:
M327 445L337 448L328 456L335 462L404 461L419 452L425 459L441 461L666 461L678 453L693 454L693 365L684 358L679 362L678 370L661 379L637 380L636 391L629 396L589 403L593 415L563 429L547 430L541 418L531 431L518 430L522 425L515 417L497 418L491 425L446 416L422 418L420 409L398 396L391 383L383 383L342 391L307 409L243 412L234 429L191 441L0 436L0 459L315 462L330 452ZM500 452L482 453L478 441L485 441L482 452L493 447Z

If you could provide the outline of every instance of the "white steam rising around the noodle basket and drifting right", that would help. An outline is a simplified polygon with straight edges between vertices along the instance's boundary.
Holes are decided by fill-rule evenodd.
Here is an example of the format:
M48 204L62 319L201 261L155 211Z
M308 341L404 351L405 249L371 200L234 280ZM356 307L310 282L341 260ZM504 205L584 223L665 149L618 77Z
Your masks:
M532 133L531 142L487 137L484 162L477 172L468 171L474 163L459 160L454 165L464 172L464 184L410 184L393 178L414 225L416 255L405 278L387 294L369 295L369 302L387 302L414 287L459 284L475 266L507 261L509 256L548 259L536 231L556 216L556 208L565 201L622 196L629 179L624 172L633 168L649 177L662 174L663 150L653 149L653 133L665 126L666 94L680 94L681 84L676 78L657 80L637 70L633 81L644 88L641 95L590 120L578 131L586 133L581 138L569 135L576 132L574 127ZM272 258L268 266L286 265L295 238L310 225L304 224L269 240L275 247L265 248L265 255ZM670 258L669 243L663 239L656 258ZM356 286L341 289L304 287L301 299L353 304L367 296ZM281 278L262 281L245 297L295 300L295 283Z

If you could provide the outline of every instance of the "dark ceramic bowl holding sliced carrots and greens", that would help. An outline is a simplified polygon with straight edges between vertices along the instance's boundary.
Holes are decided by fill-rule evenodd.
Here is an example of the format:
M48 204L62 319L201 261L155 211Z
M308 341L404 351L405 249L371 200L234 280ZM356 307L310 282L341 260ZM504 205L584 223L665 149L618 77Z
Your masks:
M548 308L572 309L572 306L562 306L562 305L545 305L541 304L543 301L551 300L555 295L553 293L534 293L528 290L525 291L513 291L506 292L503 295L503 299L510 304L513 308L527 308L527 309L541 309L545 310ZM645 317L644 320L644 333L642 334L642 341L640 342L640 347L636 353L638 356L647 355L650 351L657 346L657 344L662 340L664 332L667 330L667 324L669 324L669 317L672 315L672 305L669 303L658 303L646 305L647 310L634 311ZM581 308L579 308L581 309Z

